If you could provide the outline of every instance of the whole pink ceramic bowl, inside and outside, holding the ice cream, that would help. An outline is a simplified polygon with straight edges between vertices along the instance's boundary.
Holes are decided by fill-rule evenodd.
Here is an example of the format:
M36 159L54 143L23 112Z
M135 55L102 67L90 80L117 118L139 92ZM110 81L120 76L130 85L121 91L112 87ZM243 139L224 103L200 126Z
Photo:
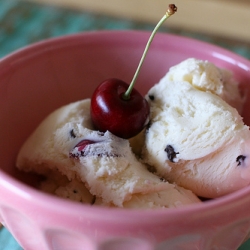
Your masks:
M0 61L0 221L25 249L235 250L250 233L250 187L179 209L126 210L93 207L32 188L35 177L15 170L17 152L51 111L90 97L106 78L132 78L147 32L92 32L47 40ZM250 62L224 49L157 34L137 89L145 94L188 57L233 70L250 89ZM250 96L244 117L250 124Z

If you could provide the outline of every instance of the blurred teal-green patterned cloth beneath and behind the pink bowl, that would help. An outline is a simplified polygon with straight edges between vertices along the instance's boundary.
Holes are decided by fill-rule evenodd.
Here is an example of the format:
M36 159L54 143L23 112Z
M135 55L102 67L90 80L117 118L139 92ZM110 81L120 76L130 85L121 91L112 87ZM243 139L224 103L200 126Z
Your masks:
M28 44L66 34L107 29L151 31L153 28L154 24L133 22L89 12L73 11L21 0L0 0L0 58ZM250 43L231 41L181 29L162 28L161 31L210 42L250 59ZM21 249L8 230L1 228L0 250ZM239 248L239 250L249 249L250 240Z

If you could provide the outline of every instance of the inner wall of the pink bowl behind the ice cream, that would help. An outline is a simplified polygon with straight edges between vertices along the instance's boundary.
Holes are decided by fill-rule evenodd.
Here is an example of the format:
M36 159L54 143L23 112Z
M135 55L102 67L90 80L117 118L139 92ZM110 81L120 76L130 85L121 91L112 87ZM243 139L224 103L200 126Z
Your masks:
M129 83L148 37L148 32L90 32L43 41L3 58L0 171L27 183L34 180L15 169L16 155L24 140L47 114L61 105L91 97L103 80L116 77ZM250 63L246 59L206 43L167 34L155 37L136 88L146 94L170 66L189 57L232 70L242 88L249 90ZM249 106L248 93L243 112L247 124Z

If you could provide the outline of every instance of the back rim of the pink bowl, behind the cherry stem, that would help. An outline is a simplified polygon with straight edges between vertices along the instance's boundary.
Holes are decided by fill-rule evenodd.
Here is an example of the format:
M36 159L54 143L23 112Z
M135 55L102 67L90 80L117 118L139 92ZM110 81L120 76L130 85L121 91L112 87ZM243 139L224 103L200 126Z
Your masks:
M23 53L26 53L26 51L30 51L30 50L38 51L37 53L39 53L38 49L45 47L46 45L56 45L55 46L56 48L60 48L60 46L69 45L70 42L76 41L76 38L88 38L88 37L93 38L94 36L102 36L103 38L109 39L109 37L111 36L112 38L115 38L113 39L115 42L116 39L119 40L120 35L124 35L124 34L126 34L126 36L128 37L129 36L138 36L138 37L141 36L143 37L143 39L145 39L145 45L146 45L146 42L151 32L146 31L146 30L93 30L93 31L85 31L85 32L79 32L79 33L74 33L74 34L61 35L61 36L52 37L52 38L45 38L43 40L31 43L31 44L27 44L21 48L18 48L10 52L9 54L0 58L0 62L2 63L2 61L8 62L9 60L14 60L15 57L17 58L21 57ZM237 66L239 66L240 68L243 68L245 71L250 71L249 65L247 66L250 60L243 57L242 55L232 52L229 49L223 48L219 45L212 44L212 43L202 41L202 40L198 40L192 37L166 33L163 31L159 31L156 36L159 38L168 37L169 39L181 40L185 44L185 46L188 48L189 47L192 48L193 45L200 45L200 46L196 46L196 51L202 51L204 53L204 48L206 48L207 50L206 54L208 55L210 54L210 52L208 51L215 50L216 52L214 51L212 52L213 57L224 60L224 61L235 63L237 64ZM83 40L79 39L77 43L82 43L82 41ZM154 46L153 43L151 46ZM203 47L203 49L197 49L200 47ZM236 61L240 61L240 63L237 63Z

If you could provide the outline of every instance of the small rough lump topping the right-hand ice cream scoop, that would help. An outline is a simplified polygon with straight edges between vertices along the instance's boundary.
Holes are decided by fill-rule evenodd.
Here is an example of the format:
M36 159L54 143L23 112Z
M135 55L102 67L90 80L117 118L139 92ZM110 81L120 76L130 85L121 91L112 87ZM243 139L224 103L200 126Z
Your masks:
M239 83L233 78L232 72L218 68L209 61L188 58L171 67L166 75L170 81L186 81L196 89L211 92L221 97L230 106L242 111L244 98L239 91Z

